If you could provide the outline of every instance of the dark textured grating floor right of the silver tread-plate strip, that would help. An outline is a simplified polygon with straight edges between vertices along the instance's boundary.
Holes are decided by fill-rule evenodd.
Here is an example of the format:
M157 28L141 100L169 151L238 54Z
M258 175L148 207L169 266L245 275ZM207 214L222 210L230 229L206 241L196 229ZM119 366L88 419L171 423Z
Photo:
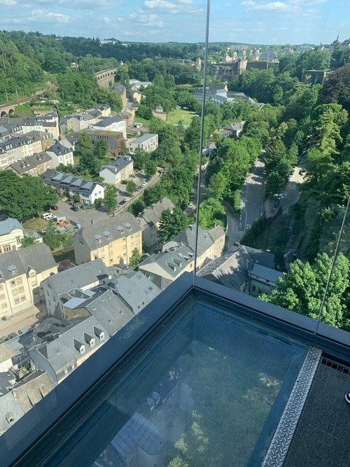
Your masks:
M322 358L283 467L350 467L350 368Z

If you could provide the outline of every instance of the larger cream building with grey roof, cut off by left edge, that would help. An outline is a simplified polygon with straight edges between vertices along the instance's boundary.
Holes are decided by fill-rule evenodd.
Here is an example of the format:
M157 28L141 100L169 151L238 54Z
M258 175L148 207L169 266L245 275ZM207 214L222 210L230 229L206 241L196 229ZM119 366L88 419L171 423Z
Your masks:
M40 243L0 255L0 318L13 316L44 300L41 282L57 273L55 259Z

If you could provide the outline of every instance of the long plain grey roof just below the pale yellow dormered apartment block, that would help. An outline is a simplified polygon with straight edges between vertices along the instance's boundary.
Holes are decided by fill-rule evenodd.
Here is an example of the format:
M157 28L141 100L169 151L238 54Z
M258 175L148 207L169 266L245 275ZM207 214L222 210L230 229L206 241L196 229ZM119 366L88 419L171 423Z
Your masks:
M82 265L71 267L58 274L52 274L42 284L49 282L57 295L67 293L73 288L82 288L96 281L111 277L111 270L104 265L101 258Z

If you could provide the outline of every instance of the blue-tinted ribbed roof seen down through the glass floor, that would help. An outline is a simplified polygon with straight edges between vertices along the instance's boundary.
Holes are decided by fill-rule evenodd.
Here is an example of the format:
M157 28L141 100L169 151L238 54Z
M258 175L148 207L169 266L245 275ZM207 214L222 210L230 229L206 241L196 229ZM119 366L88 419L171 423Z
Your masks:
M167 438L159 433L157 426L135 412L111 440L111 445L126 459L136 446L150 456L155 456L165 447L166 441Z

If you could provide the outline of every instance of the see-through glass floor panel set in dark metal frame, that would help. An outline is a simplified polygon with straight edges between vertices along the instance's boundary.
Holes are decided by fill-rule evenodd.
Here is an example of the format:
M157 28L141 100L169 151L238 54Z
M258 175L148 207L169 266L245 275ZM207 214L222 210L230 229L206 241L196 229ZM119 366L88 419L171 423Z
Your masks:
M196 302L45 465L258 466L306 352Z

